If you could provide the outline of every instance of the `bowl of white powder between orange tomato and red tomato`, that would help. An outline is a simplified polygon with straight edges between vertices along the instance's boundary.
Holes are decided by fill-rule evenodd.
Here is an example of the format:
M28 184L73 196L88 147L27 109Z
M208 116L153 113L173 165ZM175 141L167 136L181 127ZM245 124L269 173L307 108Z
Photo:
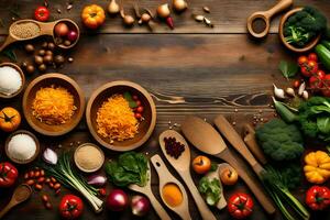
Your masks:
M16 164L33 162L40 153L40 143L36 136L25 130L12 133L6 141L6 154Z

